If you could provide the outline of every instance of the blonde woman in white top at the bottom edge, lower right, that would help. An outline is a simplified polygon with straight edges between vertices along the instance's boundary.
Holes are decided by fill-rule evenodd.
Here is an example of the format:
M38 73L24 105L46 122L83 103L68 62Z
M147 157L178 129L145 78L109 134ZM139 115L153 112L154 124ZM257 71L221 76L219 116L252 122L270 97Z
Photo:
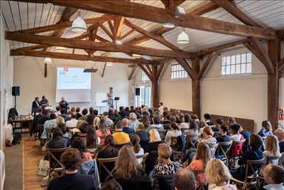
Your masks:
M207 163L205 177L209 183L209 190L236 190L236 186L228 184L231 174L220 159L212 159Z

